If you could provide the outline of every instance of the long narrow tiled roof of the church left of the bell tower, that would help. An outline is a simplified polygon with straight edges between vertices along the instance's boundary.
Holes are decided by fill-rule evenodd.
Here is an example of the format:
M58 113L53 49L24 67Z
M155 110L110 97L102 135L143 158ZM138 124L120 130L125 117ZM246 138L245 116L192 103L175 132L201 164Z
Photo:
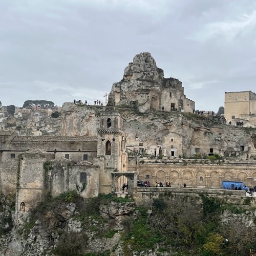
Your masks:
M97 136L16 136L13 141L97 141Z

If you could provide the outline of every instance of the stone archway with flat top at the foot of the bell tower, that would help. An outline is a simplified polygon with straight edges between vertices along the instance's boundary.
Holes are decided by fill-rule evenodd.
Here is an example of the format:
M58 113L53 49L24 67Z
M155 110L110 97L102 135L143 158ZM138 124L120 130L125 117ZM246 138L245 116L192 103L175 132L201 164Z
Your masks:
M127 193L133 194L134 188L137 188L137 173L136 172L115 172L111 173L112 178L112 193L118 193L118 181L121 176L127 179Z

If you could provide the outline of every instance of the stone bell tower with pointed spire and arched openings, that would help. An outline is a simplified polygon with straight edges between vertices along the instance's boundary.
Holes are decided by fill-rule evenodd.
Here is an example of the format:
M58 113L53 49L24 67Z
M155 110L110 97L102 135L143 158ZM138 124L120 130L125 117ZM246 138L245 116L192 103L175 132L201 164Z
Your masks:
M99 193L106 193L106 187L109 187L109 184L111 189L112 172L127 172L127 154L124 133L121 130L122 123L122 117L115 111L113 93L111 92L105 111L100 114L99 129L97 129L98 157L104 159Z

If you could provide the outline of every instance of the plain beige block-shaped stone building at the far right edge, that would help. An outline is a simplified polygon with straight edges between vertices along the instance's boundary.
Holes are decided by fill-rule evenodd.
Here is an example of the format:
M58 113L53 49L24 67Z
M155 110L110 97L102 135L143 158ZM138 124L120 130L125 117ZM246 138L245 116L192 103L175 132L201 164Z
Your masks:
M256 94L251 91L225 92L225 118L236 125L256 127Z

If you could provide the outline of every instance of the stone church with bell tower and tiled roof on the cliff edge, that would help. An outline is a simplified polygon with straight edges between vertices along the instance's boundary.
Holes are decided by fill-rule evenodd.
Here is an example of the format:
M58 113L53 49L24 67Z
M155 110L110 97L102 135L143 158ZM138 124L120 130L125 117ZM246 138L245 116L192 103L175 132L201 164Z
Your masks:
M121 126L122 118L115 112L110 94L100 115L98 136L17 136L15 132L0 132L2 193L16 192L16 210L21 211L36 206L47 193L57 196L77 190L83 197L111 193L112 173L127 171Z

